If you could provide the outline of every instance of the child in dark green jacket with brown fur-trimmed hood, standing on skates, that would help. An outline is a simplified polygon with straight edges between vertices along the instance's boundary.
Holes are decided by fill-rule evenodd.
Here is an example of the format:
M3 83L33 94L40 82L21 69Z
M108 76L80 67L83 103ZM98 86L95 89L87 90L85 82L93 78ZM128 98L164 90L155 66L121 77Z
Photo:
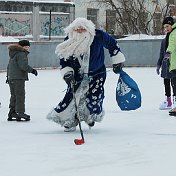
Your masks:
M18 44L8 46L9 63L7 66L7 83L10 87L10 111L8 121L29 121L30 116L25 114L25 81L28 81L28 73L37 76L37 70L28 65L30 43L21 40Z

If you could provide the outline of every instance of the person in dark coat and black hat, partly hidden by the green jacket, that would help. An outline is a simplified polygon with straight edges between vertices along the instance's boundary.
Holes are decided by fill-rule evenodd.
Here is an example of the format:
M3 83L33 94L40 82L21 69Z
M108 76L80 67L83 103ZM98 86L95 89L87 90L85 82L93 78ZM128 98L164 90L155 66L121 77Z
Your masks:
M168 47L168 38L169 38L170 32L172 31L173 24L174 24L174 20L172 17L167 17L163 21L163 26L164 25L167 26L164 28L166 37L161 42L160 57L157 62L156 71L157 71L157 74L159 75L160 69L161 69L161 77L163 78L163 81L164 81L164 90L165 90L166 100L160 104L159 106L160 110L172 108L172 98L171 98L171 92L172 92L171 89L173 89L172 83L171 83L172 73L169 72L170 63L168 59L165 59L165 54L166 54L166 50ZM175 95L173 94L173 96Z

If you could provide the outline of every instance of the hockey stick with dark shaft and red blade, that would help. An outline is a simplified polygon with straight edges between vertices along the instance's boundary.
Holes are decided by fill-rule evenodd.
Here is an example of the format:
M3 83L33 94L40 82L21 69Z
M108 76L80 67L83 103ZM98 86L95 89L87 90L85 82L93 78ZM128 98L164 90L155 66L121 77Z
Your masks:
M82 145L82 144L85 143L85 141L84 141L83 131L82 131L82 128L81 128L81 122L80 122L79 117L78 117L78 107L77 107L76 96L75 96L75 82L72 82L72 92L73 92L73 99L74 99L75 110L76 110L75 119L78 120L79 131L80 131L80 133L81 133L81 139L75 139L75 140L74 140L74 143L75 143L76 145Z

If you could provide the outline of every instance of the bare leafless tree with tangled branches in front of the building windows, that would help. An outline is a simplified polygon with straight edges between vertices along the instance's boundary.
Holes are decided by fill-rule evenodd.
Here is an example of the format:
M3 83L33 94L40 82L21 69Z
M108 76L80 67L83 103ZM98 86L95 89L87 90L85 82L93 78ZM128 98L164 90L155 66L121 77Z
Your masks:
M159 15L159 20L163 18L169 8L171 0L167 0ZM98 6L109 8L116 13L116 29L118 34L151 34L152 25L158 8L158 1L155 1L150 8L146 5L146 0L89 0L88 3L96 3ZM151 4L152 2L150 2ZM107 25L107 24L106 24ZM106 28L106 30L110 30Z

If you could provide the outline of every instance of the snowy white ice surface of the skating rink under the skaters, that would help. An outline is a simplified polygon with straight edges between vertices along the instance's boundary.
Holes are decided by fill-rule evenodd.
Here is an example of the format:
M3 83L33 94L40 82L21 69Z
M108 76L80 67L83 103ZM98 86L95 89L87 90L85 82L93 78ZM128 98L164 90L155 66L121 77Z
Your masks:
M105 118L91 130L82 123L85 144L76 146L79 130L64 133L46 119L62 99L66 84L59 71L39 70L26 83L27 123L7 122L9 88L0 73L1 176L175 176L176 119L158 110L163 82L155 68L124 68L142 93L142 107L121 111L115 101L118 76L107 72Z

